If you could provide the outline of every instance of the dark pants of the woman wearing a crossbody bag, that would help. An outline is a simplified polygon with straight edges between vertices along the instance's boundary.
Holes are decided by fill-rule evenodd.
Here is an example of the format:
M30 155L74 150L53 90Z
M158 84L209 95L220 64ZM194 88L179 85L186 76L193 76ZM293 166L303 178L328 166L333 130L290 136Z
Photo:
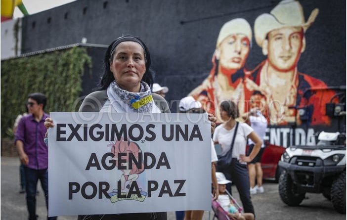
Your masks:
M227 179L236 185L245 213L253 213L256 216L251 201L247 165L241 164L237 159L233 158L229 168L219 169L217 165L217 171L223 173ZM226 189L231 193L231 183L226 184Z

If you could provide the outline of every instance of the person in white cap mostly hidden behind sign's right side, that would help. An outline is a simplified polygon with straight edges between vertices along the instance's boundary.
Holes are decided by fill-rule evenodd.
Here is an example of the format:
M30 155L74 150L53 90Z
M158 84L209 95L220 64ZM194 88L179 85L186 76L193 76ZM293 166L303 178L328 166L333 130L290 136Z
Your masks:
M205 110L202 108L202 105L199 101L196 101L192 96L187 96L182 98L178 104L179 113L193 114L193 113L205 113ZM213 186L213 197L216 200L218 198L218 184L216 177L216 162L218 161L217 153L213 141L211 139L211 178ZM185 211L184 220L201 220L204 215L203 210L188 210ZM181 216L181 213L178 212L178 216ZM177 219L177 212L176 212Z

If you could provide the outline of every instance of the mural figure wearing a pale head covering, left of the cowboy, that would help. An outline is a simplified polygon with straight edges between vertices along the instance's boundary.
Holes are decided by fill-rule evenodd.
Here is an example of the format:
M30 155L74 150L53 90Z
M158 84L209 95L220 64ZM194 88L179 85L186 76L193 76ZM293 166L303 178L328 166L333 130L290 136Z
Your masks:
M251 42L252 29L245 19L226 22L219 31L210 75L188 94L201 102L207 112L216 115L218 122L221 122L219 103L232 100L238 103L242 114L247 106L244 102L252 94L245 91L243 80Z

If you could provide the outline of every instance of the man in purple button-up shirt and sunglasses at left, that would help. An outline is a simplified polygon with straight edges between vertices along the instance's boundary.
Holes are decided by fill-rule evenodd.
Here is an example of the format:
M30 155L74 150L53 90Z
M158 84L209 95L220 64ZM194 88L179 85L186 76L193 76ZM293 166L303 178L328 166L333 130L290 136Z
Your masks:
M47 98L42 93L28 95L29 114L24 116L15 133L15 145L26 179L27 207L29 220L36 220L36 186L40 179L48 209L48 148L43 142L47 129L43 122L48 117L43 109ZM47 218L56 220L56 217Z

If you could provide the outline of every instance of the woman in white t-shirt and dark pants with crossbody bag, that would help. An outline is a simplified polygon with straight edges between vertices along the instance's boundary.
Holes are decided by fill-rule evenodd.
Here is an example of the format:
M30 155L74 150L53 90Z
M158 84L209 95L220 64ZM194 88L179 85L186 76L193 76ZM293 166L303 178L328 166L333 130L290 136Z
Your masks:
M219 110L220 118L224 123L216 128L216 132L213 135L215 144L219 143L222 147L221 156L218 157L217 171L222 172L227 179L235 183L240 193L245 213L254 214L249 191L250 180L247 163L257 156L262 141L249 125L236 122L235 119L239 116L239 113L234 102L221 102ZM255 143L249 156L245 156L247 138L250 138ZM229 185L228 190L231 192L231 185Z

